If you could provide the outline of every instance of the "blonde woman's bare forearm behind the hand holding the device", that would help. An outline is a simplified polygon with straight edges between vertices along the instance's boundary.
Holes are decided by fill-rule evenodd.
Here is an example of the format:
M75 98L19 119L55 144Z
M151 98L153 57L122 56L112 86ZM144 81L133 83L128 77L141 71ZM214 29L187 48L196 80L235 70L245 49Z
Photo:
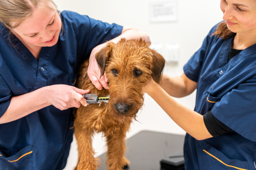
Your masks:
M22 117L51 105L45 93L45 88L40 88L30 93L14 96L4 115L0 118L0 124L12 122Z

